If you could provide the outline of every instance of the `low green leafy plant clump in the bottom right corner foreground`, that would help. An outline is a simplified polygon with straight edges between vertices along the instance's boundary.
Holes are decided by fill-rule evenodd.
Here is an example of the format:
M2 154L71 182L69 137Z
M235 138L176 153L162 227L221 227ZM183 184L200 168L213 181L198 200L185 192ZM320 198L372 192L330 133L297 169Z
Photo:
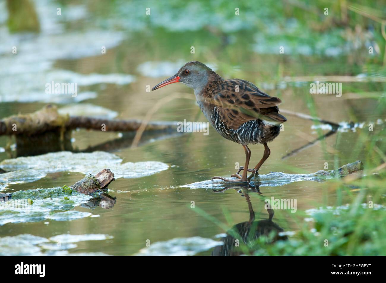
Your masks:
M256 239L255 256L385 256L384 207L349 206L326 209L312 215L314 228L303 223L295 237L269 244L270 237ZM271 236L272 237L272 236Z

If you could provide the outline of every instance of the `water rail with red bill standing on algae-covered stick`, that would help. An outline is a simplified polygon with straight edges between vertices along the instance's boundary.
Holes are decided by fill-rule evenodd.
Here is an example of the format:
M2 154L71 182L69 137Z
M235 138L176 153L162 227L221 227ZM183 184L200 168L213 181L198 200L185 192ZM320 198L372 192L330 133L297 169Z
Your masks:
M244 147L245 166L240 166L231 176L236 178L214 176L212 180L249 183L271 154L267 143L279 135L281 125L287 120L279 114L280 98L267 95L250 81L225 80L199 61L186 63L175 75L152 90L177 82L193 88L198 106L222 137ZM264 145L263 156L253 169L248 168L251 158L249 144ZM247 172L252 174L247 176Z

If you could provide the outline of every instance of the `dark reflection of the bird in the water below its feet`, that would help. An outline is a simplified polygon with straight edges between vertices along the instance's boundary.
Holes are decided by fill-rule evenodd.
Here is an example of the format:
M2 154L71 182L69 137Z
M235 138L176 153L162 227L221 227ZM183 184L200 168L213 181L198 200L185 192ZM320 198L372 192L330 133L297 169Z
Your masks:
M255 213L252 208L249 193L256 192L261 195L258 185L233 185L226 186L222 190L213 191L219 193L229 189L236 190L241 196L245 197L249 208L249 220L236 224L227 231L227 236L222 238L222 242L224 242L223 246L215 247L212 251L212 256L240 256L242 254L253 254L253 252L259 248L257 239L260 236L269 237L271 242L287 239L287 236L279 235L280 232L284 231L283 228L272 221L274 215L273 209L267 209L268 219L255 221ZM262 197L261 202L265 205L264 197Z

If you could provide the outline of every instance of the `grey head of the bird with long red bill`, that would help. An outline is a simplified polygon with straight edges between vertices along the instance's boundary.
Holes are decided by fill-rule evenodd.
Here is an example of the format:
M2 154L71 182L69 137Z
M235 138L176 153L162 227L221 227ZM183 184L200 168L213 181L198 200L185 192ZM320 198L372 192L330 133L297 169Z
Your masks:
M171 83L181 82L190 88L193 88L196 92L197 90L201 90L205 85L207 85L208 80L214 74L217 75L205 64L198 61L192 61L182 66L176 75L171 76L170 78L154 86L152 90L156 90Z

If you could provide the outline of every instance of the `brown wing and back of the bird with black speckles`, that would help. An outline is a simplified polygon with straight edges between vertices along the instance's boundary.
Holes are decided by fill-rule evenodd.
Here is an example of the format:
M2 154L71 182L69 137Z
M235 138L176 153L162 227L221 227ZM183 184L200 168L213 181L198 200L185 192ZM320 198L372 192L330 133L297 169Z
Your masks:
M208 90L208 95L230 129L237 129L249 120L264 119L278 123L286 121L278 113L277 105L281 100L270 97L249 81L220 81Z

